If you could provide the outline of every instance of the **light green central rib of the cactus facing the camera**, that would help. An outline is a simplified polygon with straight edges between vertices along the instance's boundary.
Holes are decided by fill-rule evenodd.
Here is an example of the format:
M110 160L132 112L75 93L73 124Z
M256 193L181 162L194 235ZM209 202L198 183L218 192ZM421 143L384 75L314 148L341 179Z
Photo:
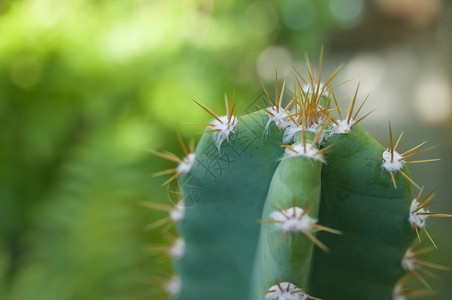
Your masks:
M252 299L279 281L307 286L314 244L328 251L315 232L340 233L317 224L324 151L315 145L322 133L302 131L300 141L285 146L263 210Z

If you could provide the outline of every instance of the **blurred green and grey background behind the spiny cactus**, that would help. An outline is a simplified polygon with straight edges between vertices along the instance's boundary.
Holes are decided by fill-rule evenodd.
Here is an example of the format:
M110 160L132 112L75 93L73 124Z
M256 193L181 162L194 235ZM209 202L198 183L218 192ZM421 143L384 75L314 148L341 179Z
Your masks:
M243 111L322 45L381 143L391 120L401 147L440 146L412 169L452 212L451 36L446 0L0 0L0 299L164 299L150 249L175 233L146 230L166 214L140 203L169 203L150 175L173 165L146 149L181 154L176 130L209 120L191 99L223 112L235 89ZM452 221L431 223L452 267ZM452 299L441 276L432 299Z

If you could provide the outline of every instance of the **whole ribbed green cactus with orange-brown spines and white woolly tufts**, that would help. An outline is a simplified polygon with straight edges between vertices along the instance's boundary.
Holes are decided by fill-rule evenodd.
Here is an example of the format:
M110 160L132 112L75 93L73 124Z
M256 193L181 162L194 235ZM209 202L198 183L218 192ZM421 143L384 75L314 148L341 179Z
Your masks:
M185 157L154 154L178 163L170 212L180 233L168 248L176 277L166 285L176 299L405 299L433 292L421 272L447 269L421 258L434 194L413 199L407 164L423 144L397 152L358 123L365 100L358 89L347 113L332 86L308 63L297 72L294 95L283 106L285 83L269 106L237 116L196 102L213 117L196 150L179 137ZM277 85L277 81L276 81ZM355 111L356 110L356 111ZM389 125L390 126L390 125ZM175 180L177 178L177 180ZM176 184L174 184L177 181ZM174 191L179 186L180 192ZM161 225L166 221L157 221ZM156 227L156 226L152 226ZM419 239L418 243L416 240ZM417 243L419 245L417 245ZM418 280L425 290L412 289Z

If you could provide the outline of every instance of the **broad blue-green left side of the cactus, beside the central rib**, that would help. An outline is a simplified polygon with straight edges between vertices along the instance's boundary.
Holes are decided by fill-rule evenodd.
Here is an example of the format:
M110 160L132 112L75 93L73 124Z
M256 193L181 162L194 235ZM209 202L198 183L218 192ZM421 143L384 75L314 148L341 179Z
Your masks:
M185 256L176 262L182 278L181 299L240 299L251 285L252 268L268 186L283 154L282 132L258 111L237 118L223 137L203 135L196 160L181 176L185 195L193 186L199 199L189 196L178 229L185 239ZM227 259L220 259L227 257Z

